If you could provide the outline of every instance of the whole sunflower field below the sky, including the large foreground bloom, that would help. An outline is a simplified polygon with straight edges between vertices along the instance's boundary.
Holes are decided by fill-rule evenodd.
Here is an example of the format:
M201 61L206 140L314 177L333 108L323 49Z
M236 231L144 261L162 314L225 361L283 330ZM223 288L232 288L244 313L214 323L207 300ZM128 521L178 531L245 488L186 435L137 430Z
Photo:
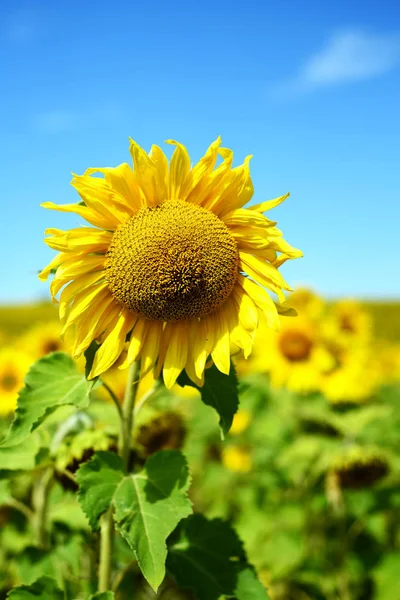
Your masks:
M291 291L288 195L169 143L0 308L0 598L400 598L400 306Z

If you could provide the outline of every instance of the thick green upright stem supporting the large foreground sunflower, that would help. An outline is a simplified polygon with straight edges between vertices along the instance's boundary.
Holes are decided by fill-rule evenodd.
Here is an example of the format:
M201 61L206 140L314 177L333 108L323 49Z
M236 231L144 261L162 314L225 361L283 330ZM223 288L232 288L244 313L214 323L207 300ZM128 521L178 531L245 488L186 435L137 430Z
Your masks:
M124 403L120 411L120 436L118 454L121 456L124 466L128 469L131 452L133 408L135 406L137 388L139 385L140 364L135 362L131 365L128 383L125 390ZM101 518L100 526L100 561L99 561L99 592L111 590L111 567L114 538L114 521L112 506Z

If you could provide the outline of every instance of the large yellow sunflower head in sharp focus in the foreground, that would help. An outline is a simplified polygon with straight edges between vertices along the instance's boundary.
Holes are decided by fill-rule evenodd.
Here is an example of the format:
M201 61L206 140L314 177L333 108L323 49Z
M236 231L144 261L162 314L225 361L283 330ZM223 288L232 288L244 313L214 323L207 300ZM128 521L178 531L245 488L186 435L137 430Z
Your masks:
M74 331L74 356L100 347L90 378L109 369L129 341L127 367L162 370L171 388L185 369L201 385L206 361L229 372L231 342L252 349L259 310L278 329L275 303L289 286L278 271L301 252L263 213L288 196L244 209L253 195L249 160L232 168L233 153L218 138L191 168L175 141L170 162L158 146L147 154L131 140L132 169L88 169L72 185L81 202L45 208L75 212L93 227L48 229L60 253L40 273L56 269L63 332ZM222 160L217 163L218 157Z

